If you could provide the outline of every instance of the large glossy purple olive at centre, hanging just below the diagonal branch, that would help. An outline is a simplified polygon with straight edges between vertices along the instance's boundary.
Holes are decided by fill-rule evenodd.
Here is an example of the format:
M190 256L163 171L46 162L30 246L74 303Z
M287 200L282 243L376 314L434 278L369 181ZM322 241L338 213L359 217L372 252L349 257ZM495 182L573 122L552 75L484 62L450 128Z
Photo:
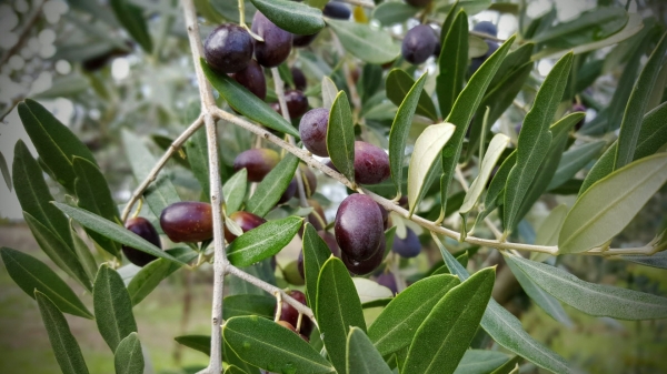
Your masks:
M382 212L367 195L354 193L338 206L334 231L340 251L350 260L367 260L385 237Z

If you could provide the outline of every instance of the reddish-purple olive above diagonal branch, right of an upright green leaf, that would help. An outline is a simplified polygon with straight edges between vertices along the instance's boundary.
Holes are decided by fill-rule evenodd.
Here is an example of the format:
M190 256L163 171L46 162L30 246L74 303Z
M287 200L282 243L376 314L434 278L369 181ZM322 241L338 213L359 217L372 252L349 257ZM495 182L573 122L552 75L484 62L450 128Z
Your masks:
M370 143L355 142L355 181L377 184L389 178L389 155Z

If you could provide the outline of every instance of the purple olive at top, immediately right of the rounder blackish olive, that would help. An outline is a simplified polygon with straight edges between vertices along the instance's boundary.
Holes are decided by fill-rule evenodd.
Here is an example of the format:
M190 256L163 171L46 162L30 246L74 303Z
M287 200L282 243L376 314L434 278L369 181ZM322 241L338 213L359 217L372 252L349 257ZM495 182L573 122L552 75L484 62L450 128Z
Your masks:
M265 68L275 68L281 64L291 51L292 34L271 22L261 12L256 12L252 18L252 32L265 41L255 41L255 58Z

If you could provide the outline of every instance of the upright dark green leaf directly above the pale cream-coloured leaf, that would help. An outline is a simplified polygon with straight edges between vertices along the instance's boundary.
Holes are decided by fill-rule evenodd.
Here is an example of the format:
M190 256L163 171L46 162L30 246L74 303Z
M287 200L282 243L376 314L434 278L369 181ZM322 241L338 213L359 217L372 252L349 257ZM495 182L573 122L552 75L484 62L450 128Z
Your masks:
M440 113L449 114L456 98L464 89L468 70L468 16L460 10L447 32L438 59L440 73L436 79L436 93ZM486 43L484 43L486 46Z

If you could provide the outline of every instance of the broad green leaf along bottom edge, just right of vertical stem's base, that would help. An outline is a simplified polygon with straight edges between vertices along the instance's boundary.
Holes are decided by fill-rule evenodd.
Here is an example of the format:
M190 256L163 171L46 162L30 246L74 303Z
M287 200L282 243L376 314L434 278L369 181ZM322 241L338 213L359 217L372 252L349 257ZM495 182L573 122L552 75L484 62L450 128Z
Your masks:
M299 335L258 316L227 320L222 336L251 365L280 373L334 373L331 364Z

